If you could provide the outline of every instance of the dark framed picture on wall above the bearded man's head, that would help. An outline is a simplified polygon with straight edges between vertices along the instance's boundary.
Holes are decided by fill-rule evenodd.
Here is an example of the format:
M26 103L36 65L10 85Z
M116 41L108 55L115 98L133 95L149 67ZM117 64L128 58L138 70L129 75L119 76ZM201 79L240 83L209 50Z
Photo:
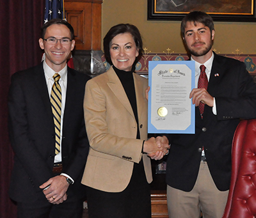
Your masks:
M193 11L214 21L256 22L255 0L148 0L148 20L182 20Z

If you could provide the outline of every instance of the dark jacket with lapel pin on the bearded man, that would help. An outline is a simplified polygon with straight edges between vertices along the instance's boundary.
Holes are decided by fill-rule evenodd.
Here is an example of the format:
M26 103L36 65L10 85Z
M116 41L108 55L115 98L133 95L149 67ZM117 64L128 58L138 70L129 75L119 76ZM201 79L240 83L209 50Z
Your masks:
M167 160L166 182L191 191L205 149L211 176L220 191L230 185L231 146L239 118L256 118L256 85L244 63L214 54L207 91L215 97L217 115L205 105L204 120L196 107L195 134L170 134L172 144Z

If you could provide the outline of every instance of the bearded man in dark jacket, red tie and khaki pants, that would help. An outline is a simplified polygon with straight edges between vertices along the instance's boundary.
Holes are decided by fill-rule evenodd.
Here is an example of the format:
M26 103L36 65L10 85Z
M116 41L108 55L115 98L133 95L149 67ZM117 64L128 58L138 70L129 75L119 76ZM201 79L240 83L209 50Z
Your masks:
M209 15L189 13L181 33L196 66L196 88L189 96L196 130L169 136L168 212L172 218L200 217L200 211L204 218L220 218L230 185L232 138L239 118L256 118L256 86L244 63L212 52Z

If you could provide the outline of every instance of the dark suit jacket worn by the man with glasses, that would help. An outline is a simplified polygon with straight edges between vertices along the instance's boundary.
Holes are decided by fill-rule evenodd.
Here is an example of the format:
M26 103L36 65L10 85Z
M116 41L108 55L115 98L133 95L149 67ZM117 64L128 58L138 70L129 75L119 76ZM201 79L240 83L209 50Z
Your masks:
M61 146L63 173L75 180L68 188L69 196L76 191L81 194L81 176L88 155L83 115L88 79L68 68ZM8 107L15 153L10 197L20 202L32 201L43 196L39 186L54 176L54 122L42 64L12 75Z

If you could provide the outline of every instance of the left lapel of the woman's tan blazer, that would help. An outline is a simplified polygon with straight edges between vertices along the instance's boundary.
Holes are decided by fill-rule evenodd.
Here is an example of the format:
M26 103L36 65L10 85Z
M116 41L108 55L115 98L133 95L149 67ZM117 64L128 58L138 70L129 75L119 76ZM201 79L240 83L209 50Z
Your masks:
M111 91L113 91L116 98L118 98L118 100L124 105L124 107L127 109L127 111L134 118L134 114L133 114L129 99L127 98L127 95L124 91L122 83L120 82L120 79L118 78L118 76L116 75L116 73L112 67L109 69L107 74L109 77L109 82L108 82L109 88L111 89Z

